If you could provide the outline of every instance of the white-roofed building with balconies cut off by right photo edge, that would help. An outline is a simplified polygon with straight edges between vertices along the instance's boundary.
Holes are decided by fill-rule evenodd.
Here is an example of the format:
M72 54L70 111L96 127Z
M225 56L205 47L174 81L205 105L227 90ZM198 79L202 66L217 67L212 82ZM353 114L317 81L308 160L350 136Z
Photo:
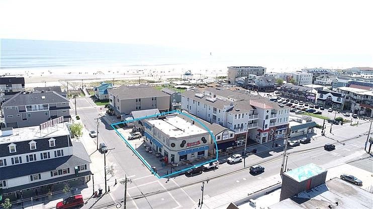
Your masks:
M348 110L359 116L373 117L372 90L339 87L337 92L344 95L343 110Z

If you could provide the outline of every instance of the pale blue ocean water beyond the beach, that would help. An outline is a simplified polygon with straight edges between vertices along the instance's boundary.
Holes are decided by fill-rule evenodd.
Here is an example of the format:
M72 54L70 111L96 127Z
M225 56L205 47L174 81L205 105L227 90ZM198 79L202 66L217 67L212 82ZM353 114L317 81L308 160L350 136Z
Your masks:
M150 45L2 39L0 68L188 65L210 54Z

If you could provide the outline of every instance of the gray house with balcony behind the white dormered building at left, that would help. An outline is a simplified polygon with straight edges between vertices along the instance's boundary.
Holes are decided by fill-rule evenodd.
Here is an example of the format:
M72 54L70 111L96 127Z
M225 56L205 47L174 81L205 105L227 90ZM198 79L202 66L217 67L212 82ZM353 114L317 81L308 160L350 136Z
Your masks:
M47 120L70 116L69 100L60 94L51 92L20 92L3 103L6 127L36 126Z

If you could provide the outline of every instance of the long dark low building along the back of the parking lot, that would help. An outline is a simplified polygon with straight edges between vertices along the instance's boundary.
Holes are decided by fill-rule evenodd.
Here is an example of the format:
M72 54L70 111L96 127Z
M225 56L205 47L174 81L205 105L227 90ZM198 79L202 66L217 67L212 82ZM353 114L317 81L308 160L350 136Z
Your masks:
M304 102L316 102L317 91L313 88L297 86L292 84L284 84L279 90L282 97L295 99Z

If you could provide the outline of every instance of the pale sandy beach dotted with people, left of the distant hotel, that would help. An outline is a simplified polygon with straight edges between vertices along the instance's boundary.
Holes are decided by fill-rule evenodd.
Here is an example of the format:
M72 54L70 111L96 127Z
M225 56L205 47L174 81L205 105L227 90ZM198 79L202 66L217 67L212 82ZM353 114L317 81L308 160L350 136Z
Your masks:
M202 65L164 65L164 66L133 66L131 68L24 68L1 69L0 75L23 76L25 87L61 86L69 83L83 83L89 86L92 82L105 80L151 80L164 82L169 78L180 79L186 71L193 74L193 79L216 78L227 76L227 66ZM80 85L79 85L80 86Z

